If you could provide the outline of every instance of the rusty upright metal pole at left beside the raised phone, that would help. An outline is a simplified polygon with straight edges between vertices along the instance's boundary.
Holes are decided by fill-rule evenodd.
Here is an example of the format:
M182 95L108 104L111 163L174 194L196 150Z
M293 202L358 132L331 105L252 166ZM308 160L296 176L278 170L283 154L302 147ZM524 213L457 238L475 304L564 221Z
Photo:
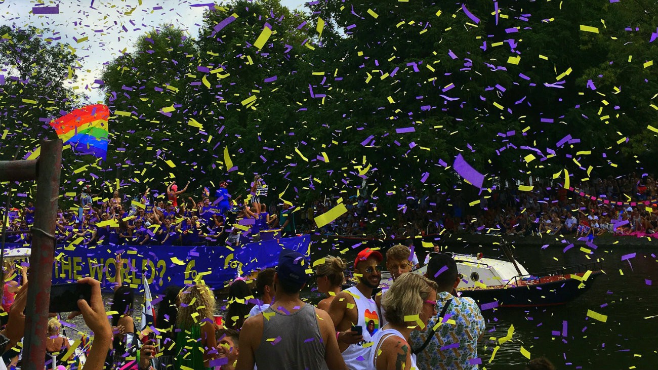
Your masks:
M43 370L50 286L55 258L55 219L62 167L62 140L42 140L36 167L37 194L32 226L30 256L30 289L25 309L23 358L29 359L23 369Z

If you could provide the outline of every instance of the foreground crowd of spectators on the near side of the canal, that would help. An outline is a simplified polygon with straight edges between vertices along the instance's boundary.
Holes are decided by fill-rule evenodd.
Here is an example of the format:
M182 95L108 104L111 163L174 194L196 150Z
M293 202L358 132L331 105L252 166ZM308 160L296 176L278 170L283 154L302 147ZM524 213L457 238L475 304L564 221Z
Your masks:
M232 282L221 320L215 316L215 292L198 278L185 287L166 287L157 299L153 325L141 330L133 319L134 288L122 284L122 257L117 255L109 309L101 283L83 278L78 284L91 286L91 298L79 300L80 312L68 319L82 313L93 334L86 370L477 369L485 322L474 300L455 290L462 278L455 260L433 252L421 275L412 272L412 253L396 245L384 261L382 253L366 248L358 253L349 280L339 257L320 259L312 268L301 253L282 250L276 269L260 271L255 281ZM392 275L384 281L382 263ZM16 364L16 344L24 335L29 272L22 271L18 286L10 283L16 272L11 263L5 265L5 286L17 289L0 332L5 339L4 348L0 341L0 369ZM318 291L326 294L316 306L300 297L312 275ZM353 285L343 290L347 281ZM254 283L256 296L249 288ZM77 368L71 344L60 334L63 320L52 316L46 367ZM526 368L554 369L544 357Z

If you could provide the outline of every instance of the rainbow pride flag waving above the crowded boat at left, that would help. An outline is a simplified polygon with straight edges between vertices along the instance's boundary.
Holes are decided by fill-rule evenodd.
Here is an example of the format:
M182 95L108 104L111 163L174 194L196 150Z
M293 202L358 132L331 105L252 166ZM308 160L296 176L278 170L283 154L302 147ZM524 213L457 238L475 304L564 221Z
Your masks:
M52 120L50 125L64 144L69 144L76 153L106 159L109 117L110 109L107 105L93 104ZM26 159L39 157L40 149L37 148Z

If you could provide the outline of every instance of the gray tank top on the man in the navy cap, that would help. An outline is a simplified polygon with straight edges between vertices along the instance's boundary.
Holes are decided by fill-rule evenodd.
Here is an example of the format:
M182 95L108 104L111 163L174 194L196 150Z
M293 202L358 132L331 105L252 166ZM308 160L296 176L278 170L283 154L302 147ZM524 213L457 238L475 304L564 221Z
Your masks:
M263 315L263 338L254 354L258 370L328 370L313 305L290 315L268 307Z

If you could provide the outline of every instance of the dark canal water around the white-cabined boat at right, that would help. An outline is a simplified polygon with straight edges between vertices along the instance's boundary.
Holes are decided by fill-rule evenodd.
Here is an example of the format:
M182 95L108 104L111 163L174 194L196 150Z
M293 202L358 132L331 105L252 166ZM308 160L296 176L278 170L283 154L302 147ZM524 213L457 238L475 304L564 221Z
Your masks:
M326 244L314 246L314 260L327 254ZM332 254L353 261L361 248L340 254L338 250L345 251L340 246ZM521 347L532 357L547 357L557 369L658 369L658 248L619 246L597 248L592 254L578 247L563 248L517 245L514 253L530 273L600 259L605 274L596 278L590 290L565 305L483 311L486 334L478 345L480 369L524 369L528 359L521 354ZM491 245L448 247L447 251L503 256ZM419 252L418 257L422 261L424 253ZM321 298L312 287L305 289L303 296L309 302ZM108 300L111 294L104 298ZM218 313L222 305L217 302ZM605 322L588 317L588 311L603 315L590 316L605 317ZM139 312L135 316L139 317ZM87 331L81 319L74 323ZM512 326L512 339L498 344L497 339L506 336Z

